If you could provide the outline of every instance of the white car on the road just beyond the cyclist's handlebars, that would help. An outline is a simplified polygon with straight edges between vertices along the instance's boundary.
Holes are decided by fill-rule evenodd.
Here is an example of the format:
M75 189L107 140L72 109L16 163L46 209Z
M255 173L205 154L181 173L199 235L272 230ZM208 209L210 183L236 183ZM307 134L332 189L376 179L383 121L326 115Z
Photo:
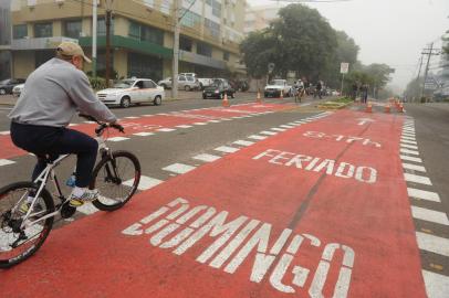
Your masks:
M117 82L113 88L96 93L105 105L119 105L124 108L132 104L153 103L158 106L165 98L164 88L149 78L126 78Z

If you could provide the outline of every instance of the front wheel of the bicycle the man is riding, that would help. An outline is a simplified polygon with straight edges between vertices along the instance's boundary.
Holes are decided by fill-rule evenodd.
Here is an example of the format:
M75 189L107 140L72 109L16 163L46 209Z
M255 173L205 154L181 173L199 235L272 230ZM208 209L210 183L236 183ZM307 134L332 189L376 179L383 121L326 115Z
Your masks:
M91 189L98 190L93 204L103 211L114 211L126 204L134 195L140 181L140 163L127 151L115 151L96 164Z

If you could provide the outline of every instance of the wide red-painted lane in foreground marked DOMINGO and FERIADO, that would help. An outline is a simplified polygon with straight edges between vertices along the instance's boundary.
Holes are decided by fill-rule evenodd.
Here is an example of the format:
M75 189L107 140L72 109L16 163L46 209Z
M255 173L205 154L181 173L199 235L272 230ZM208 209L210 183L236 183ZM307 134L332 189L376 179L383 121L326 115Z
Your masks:
M53 231L0 295L426 297L403 119L364 118L336 113Z

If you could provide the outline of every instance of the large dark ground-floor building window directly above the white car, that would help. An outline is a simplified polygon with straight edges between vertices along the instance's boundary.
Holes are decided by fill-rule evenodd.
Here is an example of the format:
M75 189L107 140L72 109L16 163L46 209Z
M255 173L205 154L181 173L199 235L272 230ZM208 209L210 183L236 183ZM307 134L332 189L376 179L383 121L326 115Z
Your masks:
M163 60L149 55L128 53L128 77L163 79Z

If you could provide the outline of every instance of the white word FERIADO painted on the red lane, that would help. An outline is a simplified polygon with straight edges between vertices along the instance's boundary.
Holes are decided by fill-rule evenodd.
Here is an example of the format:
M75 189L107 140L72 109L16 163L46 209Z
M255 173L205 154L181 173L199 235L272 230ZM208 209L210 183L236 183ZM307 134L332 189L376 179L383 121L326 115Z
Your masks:
M314 158L305 155L285 152L275 149L267 151L253 157L258 160L267 158L268 162L285 167L295 167L305 171L322 172L335 175L338 178L354 178L359 182L375 183L377 181L377 171L370 167L356 167L347 162L336 162L333 159Z

